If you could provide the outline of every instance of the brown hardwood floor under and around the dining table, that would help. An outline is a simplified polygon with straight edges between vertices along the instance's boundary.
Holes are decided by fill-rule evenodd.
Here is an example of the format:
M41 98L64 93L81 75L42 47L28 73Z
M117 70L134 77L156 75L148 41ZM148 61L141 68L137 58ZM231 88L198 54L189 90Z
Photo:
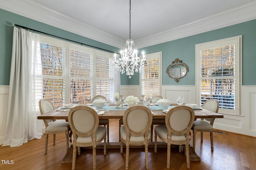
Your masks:
M190 145L192 145L192 136ZM118 119L110 119L110 142L118 141ZM158 140L160 141L160 140ZM45 137L24 143L20 147L0 147L0 169L26 170L70 170L72 164L61 164L66 154L64 134L56 135L56 145L52 145L52 135L49 135L48 152L44 154ZM71 145L71 144L70 144ZM148 149L149 169L165 170L166 148ZM255 170L256 169L256 138L224 132L214 133L214 151L210 147L210 134L204 133L204 142L200 142L200 133L196 135L196 153L200 162L190 161L190 170ZM13 164L12 164L13 161ZM9 163L9 164L8 164ZM144 149L130 149L129 169L144 170ZM82 149L76 158L76 169L92 169L92 150ZM124 170L125 149L107 149L104 156L103 149L96 150L97 170ZM171 149L171 170L187 170L186 156Z

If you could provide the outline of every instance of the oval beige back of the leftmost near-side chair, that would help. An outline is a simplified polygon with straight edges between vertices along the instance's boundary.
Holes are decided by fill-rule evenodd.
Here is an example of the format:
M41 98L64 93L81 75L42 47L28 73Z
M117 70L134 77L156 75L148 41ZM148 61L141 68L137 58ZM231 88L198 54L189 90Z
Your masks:
M87 137L92 135L96 141L96 130L99 125L99 117L94 109L87 106L76 106L68 113L68 123L74 139L78 136Z

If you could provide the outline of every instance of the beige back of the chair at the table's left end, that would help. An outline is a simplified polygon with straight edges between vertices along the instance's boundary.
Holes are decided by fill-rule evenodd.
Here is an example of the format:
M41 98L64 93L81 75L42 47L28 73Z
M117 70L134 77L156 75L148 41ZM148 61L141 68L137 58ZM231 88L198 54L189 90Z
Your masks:
M44 113L47 113L49 111L53 111L54 110L54 106L52 104L52 102L48 99L41 99L39 100L39 109L40 109L40 113L41 115ZM51 121L53 121L52 119L44 119L44 125L47 128L48 127L48 123L50 123Z

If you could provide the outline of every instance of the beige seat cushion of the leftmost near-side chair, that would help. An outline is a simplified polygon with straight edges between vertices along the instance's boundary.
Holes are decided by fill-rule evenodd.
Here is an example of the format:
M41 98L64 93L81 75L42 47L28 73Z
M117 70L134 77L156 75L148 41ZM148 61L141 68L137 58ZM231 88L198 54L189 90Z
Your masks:
M106 127L104 126L99 126L97 131L96 131L96 141L102 139L102 137L106 136ZM72 141L73 141L73 135L71 137ZM92 142L92 135L87 136L87 137L77 137L76 140L77 143L89 143Z

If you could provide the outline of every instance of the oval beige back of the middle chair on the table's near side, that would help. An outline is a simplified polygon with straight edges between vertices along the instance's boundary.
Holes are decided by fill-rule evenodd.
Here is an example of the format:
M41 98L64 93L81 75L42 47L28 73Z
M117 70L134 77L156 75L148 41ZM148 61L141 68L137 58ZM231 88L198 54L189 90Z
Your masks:
M152 113L145 106L129 107L124 112L123 123L126 130L126 141L129 140L130 134L134 136L145 135L145 139L147 139L152 123Z

